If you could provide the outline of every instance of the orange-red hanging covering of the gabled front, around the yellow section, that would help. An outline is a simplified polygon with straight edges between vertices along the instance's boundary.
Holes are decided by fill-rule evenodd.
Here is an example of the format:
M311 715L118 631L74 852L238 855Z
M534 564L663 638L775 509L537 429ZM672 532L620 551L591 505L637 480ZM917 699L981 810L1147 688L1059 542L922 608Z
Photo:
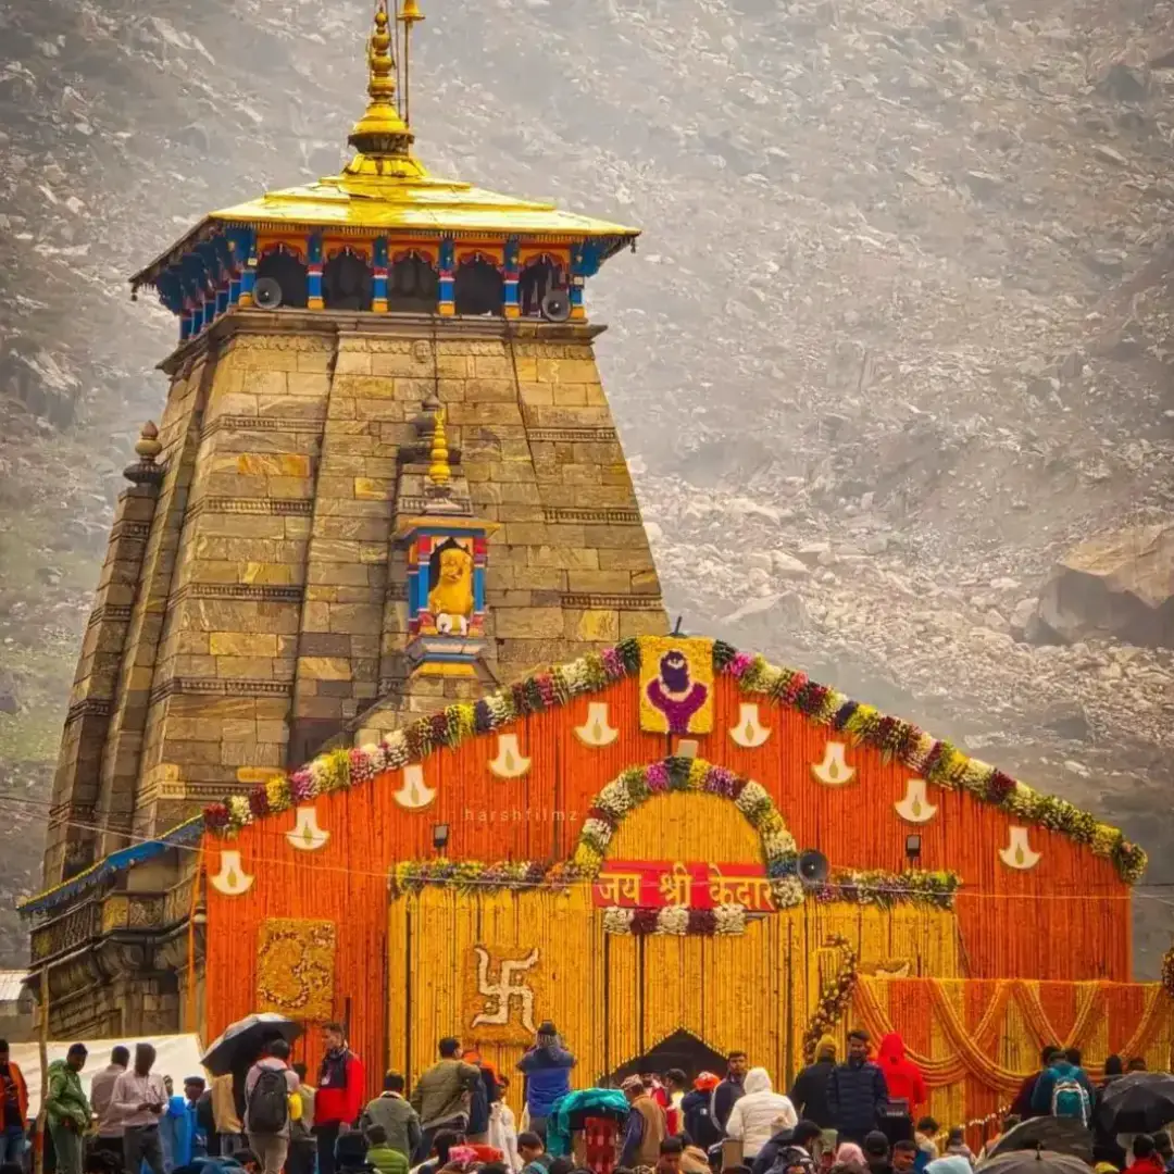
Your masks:
M352 1045L375 1080L389 1053L386 994L402 981L394 977L394 959L390 967L385 960L391 865L434 858L432 829L441 823L450 828L447 855L454 859L568 857L594 796L625 768L663 758L675 744L675 740L641 731L637 689L636 681L628 679L519 721L512 733L522 756L531 760L522 777L501 778L491 771L499 738L493 733L424 760L424 782L436 791L424 809L396 802L402 771L319 796L317 819L330 838L318 851L299 851L286 839L295 823L292 811L259 819L235 841L209 837L209 875L220 869L221 851L231 849L241 853L241 866L254 882L242 896L225 896L209 886L208 1037L255 1010L258 931L266 918L328 918L338 931L335 1016L349 1021ZM607 707L607 723L618 731L605 747L587 744L575 733L587 723L588 706L600 703ZM905 837L916 831L922 837L920 865L949 869L963 879L957 898L957 953L964 976L1128 979L1129 890L1111 862L1061 835L1032 826L1031 846L1041 853L1039 864L1028 871L1010 869L998 853L1008 843L1016 824L1012 817L969 795L931 787L929 801L937 805L937 814L927 823L909 824L893 809L905 794L908 770L886 762L878 751L849 744L846 758L855 778L844 787L826 787L812 777L811 767L823 758L828 741L845 740L758 700L758 720L770 729L770 737L761 747L745 749L729 734L740 722L744 724L744 703L736 683L718 677L714 730L696 738L700 756L761 783L798 848L819 849L835 866L899 871L906 864ZM905 920L918 916L916 906L904 906L893 916L898 913ZM900 935L903 940L917 940L909 926ZM1053 1024L1062 1019L1057 1007L1040 998L1040 1016ZM1143 1011L1139 1003L1135 1016ZM1035 1014L1033 1010L1027 1013ZM1071 1013L1075 1016L1077 1008ZM949 1024L949 1017L943 1021ZM1038 1020L1032 1021L1038 1026ZM451 1025L437 1025L438 1035L450 1030ZM920 1047L925 1051L929 1040L923 1039ZM311 1062L316 1059L316 1040L299 1048L309 1052Z

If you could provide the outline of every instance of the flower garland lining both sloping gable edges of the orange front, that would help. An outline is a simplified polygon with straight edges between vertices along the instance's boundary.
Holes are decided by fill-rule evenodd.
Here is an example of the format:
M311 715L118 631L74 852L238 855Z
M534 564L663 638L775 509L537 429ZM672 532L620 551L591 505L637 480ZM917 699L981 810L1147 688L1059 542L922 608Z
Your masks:
M211 804L204 811L204 824L217 835L232 836L254 819L286 811L321 794L369 782L441 747L459 745L468 737L500 729L528 714L598 693L636 674L640 657L640 640L633 636L614 648L588 653L477 702L448 706L389 734L378 744L319 755L298 770L275 775L248 796L235 795ZM713 657L715 672L731 676L741 693L795 709L814 724L844 734L853 745L870 747L900 762L936 787L964 790L1025 823L1068 836L1087 845L1095 856L1111 859L1128 884L1141 879L1147 863L1145 851L1116 828L1098 822L1095 816L1066 799L1040 795L997 768L969 758L949 742L935 740L911 722L855 702L837 689L811 681L804 673L770 664L762 656L738 652L721 640L714 641ZM646 781L646 785L653 784ZM662 785L659 776L655 785ZM667 789L674 788L689 789L669 780Z

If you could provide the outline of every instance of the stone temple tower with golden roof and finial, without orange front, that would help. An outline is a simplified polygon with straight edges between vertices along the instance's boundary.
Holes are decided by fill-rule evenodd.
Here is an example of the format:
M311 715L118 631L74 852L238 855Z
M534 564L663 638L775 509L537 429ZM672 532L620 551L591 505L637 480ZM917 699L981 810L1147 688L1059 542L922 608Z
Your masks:
M180 337L23 906L53 1038L178 1030L202 998L209 799L667 630L583 302L637 231L430 175L394 52L419 19L380 6L340 175L212 212L131 279Z

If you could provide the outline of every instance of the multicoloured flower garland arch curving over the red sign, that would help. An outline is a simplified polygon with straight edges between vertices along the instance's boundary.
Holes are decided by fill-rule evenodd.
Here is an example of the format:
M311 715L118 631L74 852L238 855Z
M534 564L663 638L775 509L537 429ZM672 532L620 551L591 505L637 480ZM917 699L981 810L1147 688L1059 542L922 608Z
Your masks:
M761 783L715 767L704 758L663 758L647 767L629 767L612 780L593 799L572 856L578 876L594 879L603 868L608 845L623 817L656 795L694 791L733 799L747 822L758 832L763 863L776 909L803 904L798 878L799 853L775 801Z

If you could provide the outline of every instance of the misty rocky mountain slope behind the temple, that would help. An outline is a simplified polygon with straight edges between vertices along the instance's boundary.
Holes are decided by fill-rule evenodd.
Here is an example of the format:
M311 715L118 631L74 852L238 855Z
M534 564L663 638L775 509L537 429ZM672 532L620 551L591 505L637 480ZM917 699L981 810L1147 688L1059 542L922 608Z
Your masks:
M6 898L38 885L120 471L175 339L123 279L205 210L337 170L371 7L0 4ZM1174 904L1174 5L425 13L433 170L645 228L588 297L684 629L1120 823L1152 857L1154 974ZM0 960L23 958L5 909Z

